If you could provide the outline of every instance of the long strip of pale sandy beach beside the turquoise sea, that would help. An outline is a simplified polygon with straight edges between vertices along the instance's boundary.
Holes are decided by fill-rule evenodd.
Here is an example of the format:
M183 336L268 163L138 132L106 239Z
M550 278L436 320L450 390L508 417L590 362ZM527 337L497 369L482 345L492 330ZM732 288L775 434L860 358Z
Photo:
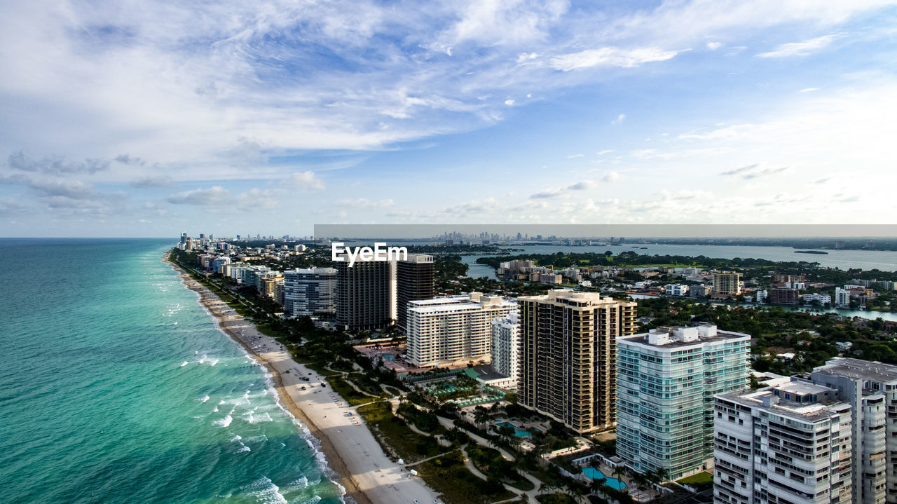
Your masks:
M168 255L164 259L180 272L179 278L187 288L199 294L200 303L218 320L222 330L272 374L283 405L320 441L327 465L339 474L337 482L346 491L346 502L428 504L437 501L436 492L420 478L389 460L353 408L330 387L321 387L326 382L318 373L293 361L283 345L258 332L212 291L171 263Z

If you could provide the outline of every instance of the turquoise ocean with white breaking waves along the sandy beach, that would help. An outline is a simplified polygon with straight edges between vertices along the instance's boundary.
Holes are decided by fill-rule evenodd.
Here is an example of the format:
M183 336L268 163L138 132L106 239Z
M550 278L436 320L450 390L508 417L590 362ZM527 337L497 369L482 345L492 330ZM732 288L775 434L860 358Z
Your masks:
M171 245L0 239L0 501L340 501Z

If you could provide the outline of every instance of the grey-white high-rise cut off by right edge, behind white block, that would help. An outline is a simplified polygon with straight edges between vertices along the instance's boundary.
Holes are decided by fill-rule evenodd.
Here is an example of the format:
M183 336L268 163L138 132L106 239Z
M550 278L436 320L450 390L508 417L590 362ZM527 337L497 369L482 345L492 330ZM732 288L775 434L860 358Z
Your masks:
M897 502L897 366L838 357L812 379L850 404L854 502Z

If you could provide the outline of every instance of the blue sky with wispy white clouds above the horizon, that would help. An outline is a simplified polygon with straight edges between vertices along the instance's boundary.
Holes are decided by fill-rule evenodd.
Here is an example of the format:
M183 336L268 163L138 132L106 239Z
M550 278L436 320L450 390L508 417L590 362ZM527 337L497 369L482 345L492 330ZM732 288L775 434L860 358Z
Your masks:
M0 75L0 236L897 214L893 0L6 0Z

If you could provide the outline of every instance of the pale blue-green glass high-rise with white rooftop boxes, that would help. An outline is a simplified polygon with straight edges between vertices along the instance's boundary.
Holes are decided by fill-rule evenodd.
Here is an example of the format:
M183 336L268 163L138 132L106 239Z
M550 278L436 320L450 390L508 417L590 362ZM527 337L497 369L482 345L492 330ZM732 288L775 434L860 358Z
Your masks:
M748 385L751 336L717 326L617 338L617 455L676 480L713 465L713 396Z

